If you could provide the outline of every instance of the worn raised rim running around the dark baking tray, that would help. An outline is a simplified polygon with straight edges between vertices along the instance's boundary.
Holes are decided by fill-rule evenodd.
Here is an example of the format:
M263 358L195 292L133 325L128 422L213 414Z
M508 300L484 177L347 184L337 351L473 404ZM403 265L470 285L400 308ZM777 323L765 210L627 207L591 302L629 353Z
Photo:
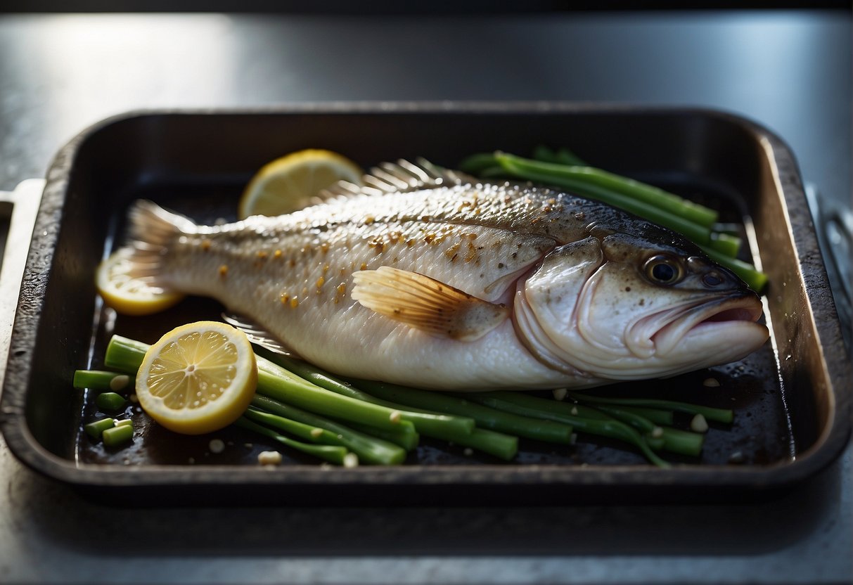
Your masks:
M820 257L819 248L813 223L805 200L804 188L798 166L793 153L779 136L763 125L746 119L738 114L705 107L664 107L664 106L634 106L630 104L608 103L577 103L567 101L330 101L293 103L274 107L216 107L216 108L164 108L138 109L127 113L102 119L85 128L67 142L56 153L54 161L47 173L47 184L36 219L37 229L33 238L43 238L49 244L50 253L55 250L56 232L45 229L40 235L39 225L47 226L61 212L64 194L69 181L70 172L74 168L74 159L79 146L90 136L95 135L111 125L132 119L161 116L263 116L263 115L301 115L301 114L382 114L409 113L431 114L451 113L460 115L477 114L573 114L599 113L618 114L628 113L653 115L695 115L711 119L723 119L735 125L741 125L761 139L761 146L774 174L776 187L782 196L786 217L791 209L798 213L805 211L809 215L811 229L800 229L794 233L790 223L788 233L792 237L792 245L798 253L798 275L802 280L804 263L799 258L802 249L818 251L818 261L811 263L809 280L823 282L828 280L826 270ZM781 170L781 171L780 171ZM793 182L780 180L780 173L793 178ZM38 254L30 254L26 262L27 273L35 272L33 263L38 260ZM26 281L26 278L25 278ZM31 288L44 293L46 281L31 278ZM22 290L24 285L22 285ZM10 388L9 375L5 379L2 397L0 397L0 432L9 449L27 466L44 475L61 482L78 487L101 486L121 488L124 486L183 484L197 485L270 485L282 484L364 484L364 485L496 485L496 484L536 484L559 485L574 484L578 486L595 486L611 484L612 477L619 479L619 484L625 486L675 486L705 487L708 479L713 478L711 485L715 488L734 488L763 490L780 487L790 487L793 484L811 477L823 467L829 465L840 455L841 450L850 437L850 396L840 394L843 388L842 380L853 377L850 362L844 351L844 341L841 337L838 316L835 313L831 295L828 298L816 299L813 289L806 287L809 310L814 311L813 304L820 301L820 310L828 321L825 333L818 340L821 353L824 356L824 371L833 386L829 396L833 400L833 416L827 420L821 435L815 443L798 455L795 460L775 463L769 466L674 466L670 470L658 469L653 466L548 466L548 465L484 465L476 466L428 466L429 473L423 473L422 466L377 467L361 466L352 470L335 470L334 473L324 471L317 466L287 466L273 470L241 467L241 474L232 473L234 466L102 466L97 464L78 464L50 453L38 443L26 424L26 384L22 388ZM39 297L41 298L41 297ZM26 332L29 327L29 337L34 341L38 327L38 315L23 315L19 310L15 315L14 326L10 333L11 345L9 351L9 370L15 369L20 379L29 377L29 364L15 356L15 347L21 346L32 349L32 343L27 344ZM17 333L17 335L16 335ZM20 339L23 336L23 339ZM827 338L827 339L823 339ZM835 359L833 359L835 358ZM840 358L840 359L838 359ZM829 361L829 360L833 361ZM228 472L225 472L228 470ZM427 477L425 477L427 476ZM607 481L606 481L607 480Z

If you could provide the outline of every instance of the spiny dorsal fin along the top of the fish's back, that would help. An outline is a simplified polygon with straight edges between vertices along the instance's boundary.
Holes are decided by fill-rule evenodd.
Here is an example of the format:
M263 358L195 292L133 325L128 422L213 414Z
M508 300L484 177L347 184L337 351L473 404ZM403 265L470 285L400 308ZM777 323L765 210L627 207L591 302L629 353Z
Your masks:
M427 159L417 159L416 163L398 159L394 163L386 162L374 166L367 175L362 177L362 185L341 181L323 190L317 195L317 199L325 201L354 195L405 193L421 188L475 181L474 177L433 165Z

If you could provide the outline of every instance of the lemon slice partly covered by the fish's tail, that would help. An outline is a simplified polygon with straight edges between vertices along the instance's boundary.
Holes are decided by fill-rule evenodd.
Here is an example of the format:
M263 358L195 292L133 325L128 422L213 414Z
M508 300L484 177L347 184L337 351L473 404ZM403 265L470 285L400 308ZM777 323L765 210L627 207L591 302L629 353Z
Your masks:
M119 248L98 265L95 285L104 302L123 315L150 315L177 304L183 294L148 284L132 253L131 248Z

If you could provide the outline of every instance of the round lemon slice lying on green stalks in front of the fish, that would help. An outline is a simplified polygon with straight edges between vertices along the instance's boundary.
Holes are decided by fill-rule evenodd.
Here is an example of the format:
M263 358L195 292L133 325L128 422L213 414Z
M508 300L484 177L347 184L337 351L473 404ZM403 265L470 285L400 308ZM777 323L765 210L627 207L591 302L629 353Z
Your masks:
M136 397L165 428L201 435L237 420L257 385L258 363L246 333L198 321L148 348L136 374Z

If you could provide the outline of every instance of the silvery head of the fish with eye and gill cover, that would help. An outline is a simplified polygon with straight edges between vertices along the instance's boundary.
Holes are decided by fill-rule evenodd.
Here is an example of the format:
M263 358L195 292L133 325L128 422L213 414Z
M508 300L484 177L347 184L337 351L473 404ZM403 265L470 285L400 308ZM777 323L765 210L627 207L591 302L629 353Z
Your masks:
M761 315L737 275L649 225L558 246L519 281L514 300L531 353L589 385L739 360L769 337Z

